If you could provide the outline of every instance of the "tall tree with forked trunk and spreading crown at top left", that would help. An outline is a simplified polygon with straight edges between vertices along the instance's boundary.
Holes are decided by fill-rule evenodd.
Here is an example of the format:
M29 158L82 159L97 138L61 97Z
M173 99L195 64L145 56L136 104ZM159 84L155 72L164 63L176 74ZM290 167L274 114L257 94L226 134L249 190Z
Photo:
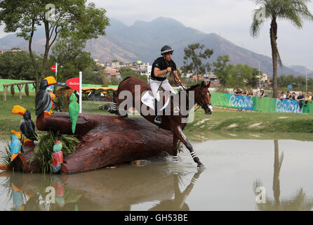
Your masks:
M86 6L86 0L2 0L0 9L0 23L5 24L4 32L18 32L18 37L28 41L29 56L36 73L36 89L39 75L45 75L48 53L58 35L63 38L72 34L79 39L97 38L105 35L105 28L109 25L105 9L95 8L93 3ZM39 70L32 53L32 39L41 25L44 25L46 45Z

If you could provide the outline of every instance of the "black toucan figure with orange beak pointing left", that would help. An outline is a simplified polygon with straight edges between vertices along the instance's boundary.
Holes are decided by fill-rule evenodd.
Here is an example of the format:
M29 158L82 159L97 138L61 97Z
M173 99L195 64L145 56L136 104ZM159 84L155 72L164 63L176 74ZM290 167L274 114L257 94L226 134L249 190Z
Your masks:
M26 146L33 146L34 141L37 141L37 134L35 133L35 124L32 122L29 110L20 105L14 105L11 113L22 115L22 119L20 120L20 131L22 131L22 134L27 138L24 140L24 143Z

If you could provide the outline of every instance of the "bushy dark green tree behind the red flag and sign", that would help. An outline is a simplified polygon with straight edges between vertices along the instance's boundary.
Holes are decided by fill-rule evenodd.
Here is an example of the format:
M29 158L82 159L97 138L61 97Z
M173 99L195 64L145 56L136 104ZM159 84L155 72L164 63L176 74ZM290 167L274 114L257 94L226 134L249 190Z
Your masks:
M58 67L58 81L65 82L71 77L77 77L79 71L95 66L91 53L84 51L85 46L86 40L79 39L76 35L61 38L53 46L53 55L50 57L50 61L52 62L51 65L55 62L60 65Z

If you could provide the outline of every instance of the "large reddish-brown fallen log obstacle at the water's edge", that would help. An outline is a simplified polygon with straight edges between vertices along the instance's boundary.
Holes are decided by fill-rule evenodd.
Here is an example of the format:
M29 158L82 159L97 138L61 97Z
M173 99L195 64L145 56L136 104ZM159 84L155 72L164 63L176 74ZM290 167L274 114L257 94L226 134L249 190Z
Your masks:
M39 131L59 131L72 134L72 122L68 113L53 113L36 119ZM119 165L133 160L156 157L162 152L173 155L173 134L159 129L142 117L116 117L95 113L79 114L76 137L80 143L74 153L64 159L60 173L73 174ZM25 153L16 159L15 171L40 172L34 156L34 146L27 146Z

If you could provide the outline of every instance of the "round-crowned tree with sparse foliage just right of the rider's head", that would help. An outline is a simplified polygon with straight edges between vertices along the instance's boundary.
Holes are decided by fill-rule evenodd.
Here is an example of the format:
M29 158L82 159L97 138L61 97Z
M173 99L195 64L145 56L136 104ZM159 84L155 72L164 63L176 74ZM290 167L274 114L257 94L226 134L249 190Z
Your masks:
M202 60L208 59L213 55L213 49L205 49L204 44L189 44L187 48L184 49L184 71L196 71L197 73L197 83L199 73L204 73L211 70L210 63L202 64ZM188 63L188 60L191 62Z

